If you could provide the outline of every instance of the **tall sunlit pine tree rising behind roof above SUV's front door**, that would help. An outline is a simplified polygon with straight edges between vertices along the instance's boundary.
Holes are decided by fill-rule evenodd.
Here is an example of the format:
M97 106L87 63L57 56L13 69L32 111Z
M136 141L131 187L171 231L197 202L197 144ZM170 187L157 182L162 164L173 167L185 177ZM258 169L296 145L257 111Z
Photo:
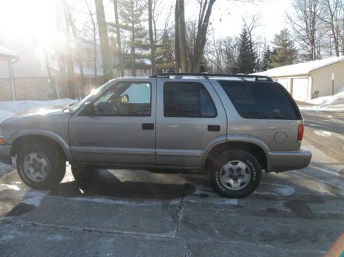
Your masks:
M144 12L147 9L146 1L122 0L120 3L121 28L127 32L125 43L130 48L131 75L136 75L136 59L142 48L147 49L147 30L142 26Z

